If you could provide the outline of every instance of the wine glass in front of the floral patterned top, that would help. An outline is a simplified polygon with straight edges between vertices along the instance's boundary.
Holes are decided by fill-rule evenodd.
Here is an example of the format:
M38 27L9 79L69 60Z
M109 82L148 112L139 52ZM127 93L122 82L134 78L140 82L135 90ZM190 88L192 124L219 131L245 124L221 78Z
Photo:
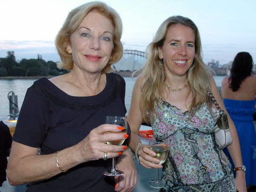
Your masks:
M169 144L164 137L152 137L149 141L149 149L156 153L156 158L160 160L158 164L163 164L168 156ZM153 162L154 163L154 162ZM156 168L156 180L151 180L148 184L153 188L162 188L165 183L158 179L159 169Z

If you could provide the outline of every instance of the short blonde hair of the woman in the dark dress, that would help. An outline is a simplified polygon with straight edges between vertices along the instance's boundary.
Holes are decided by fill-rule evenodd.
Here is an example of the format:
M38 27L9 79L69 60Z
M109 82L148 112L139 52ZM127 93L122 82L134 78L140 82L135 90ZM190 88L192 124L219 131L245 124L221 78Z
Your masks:
M73 59L72 55L67 53L67 44L70 44L71 34L77 30L83 18L92 10L96 10L107 17L114 27L113 50L108 64L102 70L102 72L109 72L111 70L111 65L113 63L117 63L121 59L123 54L123 46L121 43L122 20L117 11L115 11L113 8L109 7L103 2L94 1L78 6L70 11L63 26L59 30L59 33L55 39L55 45L61 58L61 63L58 65L59 68L65 68L67 70L73 68Z

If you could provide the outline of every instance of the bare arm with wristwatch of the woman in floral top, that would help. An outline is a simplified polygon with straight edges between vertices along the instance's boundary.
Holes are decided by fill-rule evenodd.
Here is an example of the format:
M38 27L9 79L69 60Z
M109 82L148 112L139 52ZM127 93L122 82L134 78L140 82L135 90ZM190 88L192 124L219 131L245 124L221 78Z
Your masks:
M241 156L241 150L240 150L240 144L239 144L239 138L237 136L236 127L230 118L228 112L226 111L226 108L224 106L224 103L221 99L221 96L219 94L219 90L217 88L217 85L213 78L211 78L211 92L213 93L213 96L215 97L217 103L219 103L219 106L228 116L228 124L230 128L230 134L233 140L233 143L228 146L228 152L230 153L230 156L232 158L232 161L234 162L235 167L241 167L243 165L242 156ZM215 105L214 105L215 107ZM216 107L215 107L216 108ZM243 171L237 171L236 172L236 187L237 190L246 191L246 185L245 185L245 173Z

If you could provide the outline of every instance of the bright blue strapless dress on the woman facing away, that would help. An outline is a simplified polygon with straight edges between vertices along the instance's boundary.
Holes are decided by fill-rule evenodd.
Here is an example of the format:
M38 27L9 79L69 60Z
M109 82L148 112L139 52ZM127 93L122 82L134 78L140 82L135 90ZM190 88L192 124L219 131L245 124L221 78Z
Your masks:
M243 164L246 166L246 185L256 185L256 134L252 118L256 99L250 101L223 99L223 101L236 126ZM232 162L228 150L225 149L224 152ZM233 162L232 165L234 166Z

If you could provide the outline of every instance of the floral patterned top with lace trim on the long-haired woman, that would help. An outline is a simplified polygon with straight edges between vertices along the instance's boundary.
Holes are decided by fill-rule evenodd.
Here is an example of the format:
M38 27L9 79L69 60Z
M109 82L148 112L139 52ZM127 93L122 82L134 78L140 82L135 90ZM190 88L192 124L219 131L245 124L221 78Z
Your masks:
M215 142L215 120L206 103L189 119L188 111L157 100L150 117L154 136L168 138L170 149L162 179L174 185L214 183L231 172L231 165ZM154 119L154 121L153 121Z

